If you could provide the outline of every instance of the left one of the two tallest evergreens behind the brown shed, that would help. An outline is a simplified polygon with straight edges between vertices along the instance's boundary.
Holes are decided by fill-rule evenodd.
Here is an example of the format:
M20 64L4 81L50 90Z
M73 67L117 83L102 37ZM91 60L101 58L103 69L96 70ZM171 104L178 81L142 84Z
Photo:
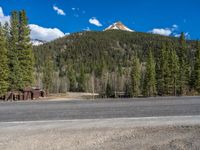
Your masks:
M19 15L13 11L10 19L10 38L8 48L9 60L9 89L19 90L23 88L22 74L18 60L19 42Z

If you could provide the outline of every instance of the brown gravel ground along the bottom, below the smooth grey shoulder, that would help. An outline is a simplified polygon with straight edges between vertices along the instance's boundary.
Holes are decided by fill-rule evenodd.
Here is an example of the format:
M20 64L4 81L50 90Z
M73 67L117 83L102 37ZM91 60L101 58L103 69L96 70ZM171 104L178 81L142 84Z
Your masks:
M2 150L199 150L200 126L0 130Z

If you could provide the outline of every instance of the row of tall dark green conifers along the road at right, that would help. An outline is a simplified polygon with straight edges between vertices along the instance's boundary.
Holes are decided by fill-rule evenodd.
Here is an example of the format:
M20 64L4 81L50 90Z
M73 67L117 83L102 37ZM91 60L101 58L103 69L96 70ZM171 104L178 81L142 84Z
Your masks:
M200 94L200 44L196 42L194 62L187 57L184 34L180 37L179 52L170 43L163 44L158 57L149 50L145 69L141 73L141 62L134 57L131 71L130 96L180 96ZM141 86L141 78L142 79Z

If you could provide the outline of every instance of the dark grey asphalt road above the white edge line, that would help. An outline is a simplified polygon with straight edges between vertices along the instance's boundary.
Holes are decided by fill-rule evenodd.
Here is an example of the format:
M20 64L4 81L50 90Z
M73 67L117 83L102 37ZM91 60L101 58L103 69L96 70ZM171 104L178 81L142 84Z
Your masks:
M194 115L200 97L0 103L0 122Z

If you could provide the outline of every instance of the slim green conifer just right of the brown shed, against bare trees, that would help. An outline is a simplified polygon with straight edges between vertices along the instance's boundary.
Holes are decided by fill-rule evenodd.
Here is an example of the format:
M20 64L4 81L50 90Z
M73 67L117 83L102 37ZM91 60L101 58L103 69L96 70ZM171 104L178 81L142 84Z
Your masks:
M43 67L43 88L48 95L50 93L50 89L52 87L53 80L53 61L50 56L45 58L44 67Z

